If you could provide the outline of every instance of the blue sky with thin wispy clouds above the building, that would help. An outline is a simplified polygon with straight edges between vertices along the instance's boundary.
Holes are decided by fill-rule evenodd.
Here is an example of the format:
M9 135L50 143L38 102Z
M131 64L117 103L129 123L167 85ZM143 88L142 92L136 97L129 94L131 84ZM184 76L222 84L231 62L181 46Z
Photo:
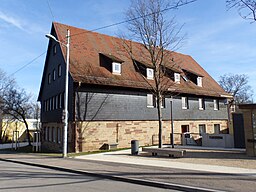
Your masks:
M51 22L92 30L124 20L129 0L0 0L0 68L34 95L40 88ZM49 6L50 5L50 6ZM168 14L185 24L184 45L216 81L225 73L247 74L256 90L256 23L226 11L225 0L197 0ZM125 24L98 32L117 35ZM43 54L39 59L33 59ZM30 63L30 64L29 64ZM256 91L255 91L256 93ZM256 94L255 94L256 95ZM254 100L256 97L254 96Z

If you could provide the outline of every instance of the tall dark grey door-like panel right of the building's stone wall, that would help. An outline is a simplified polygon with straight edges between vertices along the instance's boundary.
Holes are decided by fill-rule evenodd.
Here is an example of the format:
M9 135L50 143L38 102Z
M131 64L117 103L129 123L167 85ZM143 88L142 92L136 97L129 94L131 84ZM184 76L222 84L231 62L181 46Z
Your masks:
M234 145L235 148L245 148L244 118L241 113L233 113Z

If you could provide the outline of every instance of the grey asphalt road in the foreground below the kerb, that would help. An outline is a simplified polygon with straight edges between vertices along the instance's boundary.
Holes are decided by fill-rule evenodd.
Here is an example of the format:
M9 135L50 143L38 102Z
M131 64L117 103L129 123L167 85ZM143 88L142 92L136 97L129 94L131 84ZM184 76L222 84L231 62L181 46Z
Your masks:
M113 192L113 191L174 191L147 187L97 177L32 167L10 162L0 162L0 191L19 192Z

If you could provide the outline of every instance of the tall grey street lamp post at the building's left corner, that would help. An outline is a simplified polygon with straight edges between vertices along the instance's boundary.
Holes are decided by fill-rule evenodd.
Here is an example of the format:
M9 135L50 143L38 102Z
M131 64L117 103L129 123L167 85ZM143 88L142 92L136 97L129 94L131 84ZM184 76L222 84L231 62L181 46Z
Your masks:
M70 31L67 30L67 44L64 44L56 39L51 34L46 35L47 38L52 39L58 42L61 45L64 45L67 49L67 58L66 58L66 75L65 75L65 105L64 105L64 131L63 131L63 157L67 157L68 152L68 74L69 74L69 45L70 45Z

